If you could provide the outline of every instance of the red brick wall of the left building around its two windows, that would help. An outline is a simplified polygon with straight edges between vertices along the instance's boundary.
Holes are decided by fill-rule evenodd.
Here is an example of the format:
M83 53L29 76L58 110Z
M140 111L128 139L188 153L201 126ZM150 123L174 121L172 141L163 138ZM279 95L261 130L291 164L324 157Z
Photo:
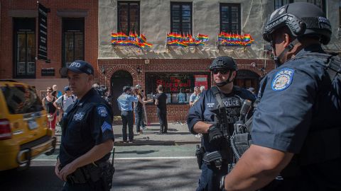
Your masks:
M48 59L51 63L46 64L36 61L36 78L60 78L58 71L62 66L62 18L57 15L61 10L84 10L85 17L85 60L90 62L97 71L97 50L98 50L98 1L97 0L40 0L48 13ZM0 79L11 79L13 77L13 18L9 16L9 10L25 9L36 10L36 1L11 0L1 1L1 37L0 37ZM37 13L38 15L38 13ZM36 47L38 45L38 17L36 18ZM40 76L41 68L55 69L55 76Z

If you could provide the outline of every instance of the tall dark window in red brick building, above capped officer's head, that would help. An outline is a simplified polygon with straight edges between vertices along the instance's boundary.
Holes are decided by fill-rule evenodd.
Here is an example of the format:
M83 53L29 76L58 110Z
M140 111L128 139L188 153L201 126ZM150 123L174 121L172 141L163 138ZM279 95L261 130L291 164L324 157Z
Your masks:
M84 18L63 18L63 66L84 60Z

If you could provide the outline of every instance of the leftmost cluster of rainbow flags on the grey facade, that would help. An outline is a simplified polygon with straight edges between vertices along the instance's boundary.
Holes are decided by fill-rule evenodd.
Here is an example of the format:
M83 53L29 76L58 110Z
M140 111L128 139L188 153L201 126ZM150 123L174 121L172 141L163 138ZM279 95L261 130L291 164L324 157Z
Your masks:
M112 33L112 45L133 46L141 49L152 46L147 42L145 35L138 35L136 32L130 32L129 36L124 33Z

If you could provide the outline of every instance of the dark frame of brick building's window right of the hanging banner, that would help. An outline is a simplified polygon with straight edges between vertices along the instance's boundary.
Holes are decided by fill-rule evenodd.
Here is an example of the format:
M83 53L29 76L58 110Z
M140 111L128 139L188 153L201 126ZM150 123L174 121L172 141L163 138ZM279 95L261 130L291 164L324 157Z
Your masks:
M80 22L80 25L75 26L75 28L70 28L67 29L65 26L65 21L75 21L75 22ZM78 23L77 22L77 23ZM62 67L65 67L67 65L66 63L66 45L65 45L65 33L73 33L73 58L75 59L75 33L82 33L83 34L83 59L85 59L85 18L62 18Z

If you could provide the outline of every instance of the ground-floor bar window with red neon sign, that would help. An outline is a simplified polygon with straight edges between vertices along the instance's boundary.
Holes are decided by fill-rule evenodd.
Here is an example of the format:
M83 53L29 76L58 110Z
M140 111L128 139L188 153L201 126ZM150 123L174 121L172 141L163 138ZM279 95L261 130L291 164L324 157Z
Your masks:
M146 73L146 95L153 98L158 85L168 96L167 103L188 104L195 86L210 88L210 73Z

